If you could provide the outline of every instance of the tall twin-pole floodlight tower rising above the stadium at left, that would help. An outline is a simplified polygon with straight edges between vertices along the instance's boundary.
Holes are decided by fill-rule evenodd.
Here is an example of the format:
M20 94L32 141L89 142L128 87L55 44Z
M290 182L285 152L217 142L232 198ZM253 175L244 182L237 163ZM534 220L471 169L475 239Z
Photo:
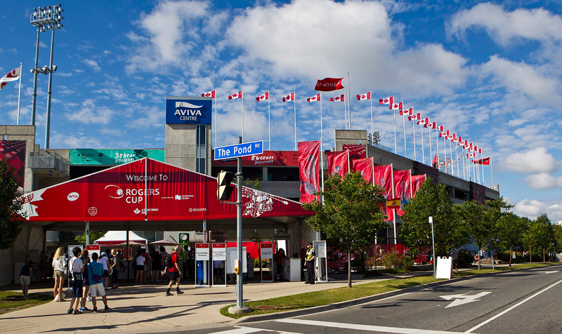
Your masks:
M60 29L63 24L60 23L63 18L64 9L61 4L48 7L34 8L33 13L30 17L30 22L32 25L37 27L37 46L35 49L35 66L31 70L34 74L33 83L33 105L32 105L32 115L31 123L35 125L35 107L37 104L37 74L48 74L48 92L47 92L47 117L45 126L45 149L48 149L48 140L51 133L51 95L53 95L53 72L57 70L57 67L53 65L53 51L55 48L55 29ZM51 33L51 61L48 66L38 67L39 62L39 34L45 32L48 29L53 29Z

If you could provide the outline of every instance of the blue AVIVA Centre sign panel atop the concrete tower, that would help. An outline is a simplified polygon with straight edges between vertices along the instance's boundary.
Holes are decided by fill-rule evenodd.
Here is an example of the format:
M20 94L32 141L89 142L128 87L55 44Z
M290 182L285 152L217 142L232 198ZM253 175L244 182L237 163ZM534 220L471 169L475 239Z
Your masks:
M166 124L211 124L211 98L166 97Z

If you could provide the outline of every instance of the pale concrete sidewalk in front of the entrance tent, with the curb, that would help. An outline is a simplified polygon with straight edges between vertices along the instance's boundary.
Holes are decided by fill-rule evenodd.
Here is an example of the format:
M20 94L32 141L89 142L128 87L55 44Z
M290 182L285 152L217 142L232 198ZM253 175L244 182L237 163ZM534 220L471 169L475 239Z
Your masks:
M371 283L387 279L409 276L431 275L432 272L414 272L396 276L376 276L365 279L353 279L353 285ZM313 286L303 282L260 283L257 279L244 283L244 302L267 298L295 295L308 291L325 290L347 286L346 280L317 283ZM122 286L116 290L107 290L110 311L98 311L79 315L67 314L70 302L48 302L37 307L21 309L7 314L0 314L3 333L164 333L197 328L221 327L244 321L263 320L260 316L249 316L233 320L220 314L219 310L236 303L235 285L226 287L196 288L183 284L183 295L166 297L163 284ZM34 288L30 293L52 295L52 287ZM70 295L67 292L67 295ZM377 298L377 297L373 297ZM356 302L363 302L357 300ZM345 307L351 302L327 305L326 307ZM92 308L91 302L86 307ZM103 302L98 298L98 309L103 309ZM313 313L321 309L297 310L295 312ZM284 312L286 316L293 312ZM267 316L267 314L266 314ZM272 315L280 316L280 314Z

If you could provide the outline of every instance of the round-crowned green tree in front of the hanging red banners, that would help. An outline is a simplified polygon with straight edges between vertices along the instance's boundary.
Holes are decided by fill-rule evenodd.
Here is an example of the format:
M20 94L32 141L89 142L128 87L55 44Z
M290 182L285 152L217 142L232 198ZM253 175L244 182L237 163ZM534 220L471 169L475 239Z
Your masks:
M342 179L331 175L325 182L324 192L318 192L324 203L314 201L303 204L316 215L308 219L315 231L322 230L327 237L338 239L348 253L347 286L351 288L351 253L365 250L377 233L388 226L383 221L381 203L383 191L378 185L363 180L360 173L348 173Z

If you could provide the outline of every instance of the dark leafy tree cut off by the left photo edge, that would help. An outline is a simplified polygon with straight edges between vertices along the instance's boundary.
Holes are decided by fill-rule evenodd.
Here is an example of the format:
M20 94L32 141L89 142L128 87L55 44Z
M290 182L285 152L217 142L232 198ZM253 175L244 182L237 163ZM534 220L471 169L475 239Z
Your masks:
M0 159L0 249L13 246L22 230L25 217L20 215L22 198L18 193L18 174Z

